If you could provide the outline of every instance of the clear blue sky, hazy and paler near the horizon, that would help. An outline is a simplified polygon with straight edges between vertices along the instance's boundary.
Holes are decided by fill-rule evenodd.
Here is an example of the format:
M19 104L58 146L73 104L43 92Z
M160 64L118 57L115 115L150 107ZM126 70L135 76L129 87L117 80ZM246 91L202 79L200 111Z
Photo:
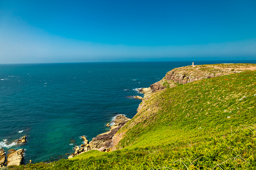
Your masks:
M253 59L255 0L0 0L0 64Z

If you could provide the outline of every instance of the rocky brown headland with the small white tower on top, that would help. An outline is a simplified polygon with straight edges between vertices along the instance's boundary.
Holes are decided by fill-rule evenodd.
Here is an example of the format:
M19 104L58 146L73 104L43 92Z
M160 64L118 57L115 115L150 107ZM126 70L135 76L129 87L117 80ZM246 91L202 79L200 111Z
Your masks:
M138 91L145 96L155 91L163 90L166 87L173 88L177 84L191 83L197 80L213 78L218 76L240 73L247 70L256 70L255 64L213 64L213 65L194 65L175 68L166 73L160 81L150 85L149 88L140 88Z

